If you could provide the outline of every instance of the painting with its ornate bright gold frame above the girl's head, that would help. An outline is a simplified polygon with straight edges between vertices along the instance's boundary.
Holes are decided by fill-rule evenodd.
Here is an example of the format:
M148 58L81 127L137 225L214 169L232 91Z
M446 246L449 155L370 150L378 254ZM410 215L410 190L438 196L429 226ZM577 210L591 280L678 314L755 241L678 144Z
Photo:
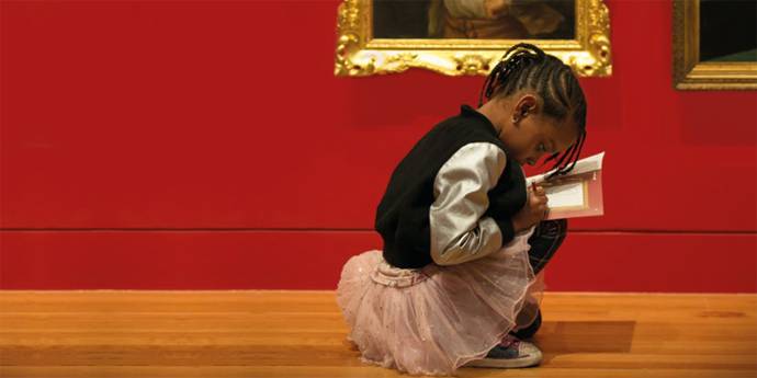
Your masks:
M610 20L602 0L344 0L336 76L403 72L488 75L520 42L579 76L610 76Z

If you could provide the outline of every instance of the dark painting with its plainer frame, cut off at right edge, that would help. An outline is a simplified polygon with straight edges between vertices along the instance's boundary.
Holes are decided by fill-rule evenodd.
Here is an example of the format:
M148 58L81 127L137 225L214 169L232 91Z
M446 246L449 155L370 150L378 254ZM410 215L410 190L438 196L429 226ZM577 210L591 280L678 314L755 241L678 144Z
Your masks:
M673 85L757 89L757 1L676 0Z

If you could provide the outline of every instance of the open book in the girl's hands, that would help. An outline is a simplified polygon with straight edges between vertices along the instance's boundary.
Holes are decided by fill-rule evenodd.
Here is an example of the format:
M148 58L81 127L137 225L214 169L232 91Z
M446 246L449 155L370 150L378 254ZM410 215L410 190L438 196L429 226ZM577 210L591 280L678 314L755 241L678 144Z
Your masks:
M550 199L550 214L546 219L591 217L602 215L602 158L597 153L576 162L566 175L545 180L554 170L526 179L542 185Z

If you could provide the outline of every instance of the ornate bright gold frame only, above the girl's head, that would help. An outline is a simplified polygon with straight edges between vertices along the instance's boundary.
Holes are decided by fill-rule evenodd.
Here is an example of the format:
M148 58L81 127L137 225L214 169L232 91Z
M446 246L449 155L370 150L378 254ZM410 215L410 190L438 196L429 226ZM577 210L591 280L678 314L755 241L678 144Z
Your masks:
M575 0L574 39L373 38L373 0L344 0L338 10L335 76L397 73L410 67L449 76L486 76L520 42L538 45L578 76L612 73L610 19L602 0Z

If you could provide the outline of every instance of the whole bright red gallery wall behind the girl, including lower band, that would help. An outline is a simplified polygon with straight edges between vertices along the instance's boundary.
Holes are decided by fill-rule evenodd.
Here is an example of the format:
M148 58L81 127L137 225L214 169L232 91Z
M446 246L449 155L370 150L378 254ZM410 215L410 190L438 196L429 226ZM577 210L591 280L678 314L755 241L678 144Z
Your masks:
M337 4L3 1L0 288L335 288L483 82L335 78ZM581 79L606 216L550 289L757 291L757 94L673 90L670 3L609 8L614 73Z

